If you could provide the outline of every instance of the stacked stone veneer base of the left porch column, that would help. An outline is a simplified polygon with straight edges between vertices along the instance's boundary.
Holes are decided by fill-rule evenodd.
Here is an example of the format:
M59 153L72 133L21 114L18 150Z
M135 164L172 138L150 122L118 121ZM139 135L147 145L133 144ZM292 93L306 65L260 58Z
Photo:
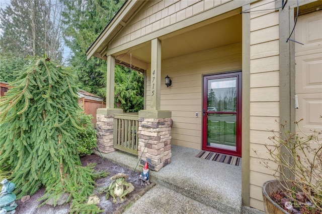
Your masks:
M100 152L116 151L113 148L114 115L96 115L97 145Z

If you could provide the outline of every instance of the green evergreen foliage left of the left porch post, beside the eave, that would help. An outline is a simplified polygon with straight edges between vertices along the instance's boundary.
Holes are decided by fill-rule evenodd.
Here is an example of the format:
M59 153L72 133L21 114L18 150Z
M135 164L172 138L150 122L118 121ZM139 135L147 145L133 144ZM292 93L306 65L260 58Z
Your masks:
M65 8L65 44L72 56L69 60L78 76L78 87L106 97L106 61L92 57L87 61L86 50L100 35L108 22L125 2L122 1L62 1Z

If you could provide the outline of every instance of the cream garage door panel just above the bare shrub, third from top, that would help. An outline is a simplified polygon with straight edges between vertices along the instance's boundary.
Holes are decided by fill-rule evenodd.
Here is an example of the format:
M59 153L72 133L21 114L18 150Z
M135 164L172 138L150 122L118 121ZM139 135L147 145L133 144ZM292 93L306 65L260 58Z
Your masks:
M304 118L301 123L301 130L309 132L314 129L322 128L322 93L318 94L298 94L298 109L296 112L296 121Z

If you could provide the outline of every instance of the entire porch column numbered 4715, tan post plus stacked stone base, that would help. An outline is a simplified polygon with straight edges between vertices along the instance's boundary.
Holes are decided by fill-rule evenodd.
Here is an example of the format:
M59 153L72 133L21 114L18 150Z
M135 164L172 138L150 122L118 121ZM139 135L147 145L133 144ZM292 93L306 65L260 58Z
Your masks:
M151 103L149 110L139 111L138 158L151 160L154 170L171 163L171 111L160 110L161 41L151 41Z

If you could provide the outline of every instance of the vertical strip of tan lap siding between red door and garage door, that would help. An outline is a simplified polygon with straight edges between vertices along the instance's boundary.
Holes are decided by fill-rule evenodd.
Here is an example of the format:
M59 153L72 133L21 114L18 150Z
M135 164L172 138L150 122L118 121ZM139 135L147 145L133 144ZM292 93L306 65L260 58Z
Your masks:
M258 1L251 11L275 8L271 1ZM263 5L269 3L267 5ZM260 6L260 7L258 7ZM251 13L250 77L250 206L264 210L262 184L275 179L261 162L270 157L265 144L271 144L269 130L279 131L279 26L278 12ZM257 152L255 152L257 151ZM259 158L260 157L260 158ZM273 168L277 165L271 164Z

